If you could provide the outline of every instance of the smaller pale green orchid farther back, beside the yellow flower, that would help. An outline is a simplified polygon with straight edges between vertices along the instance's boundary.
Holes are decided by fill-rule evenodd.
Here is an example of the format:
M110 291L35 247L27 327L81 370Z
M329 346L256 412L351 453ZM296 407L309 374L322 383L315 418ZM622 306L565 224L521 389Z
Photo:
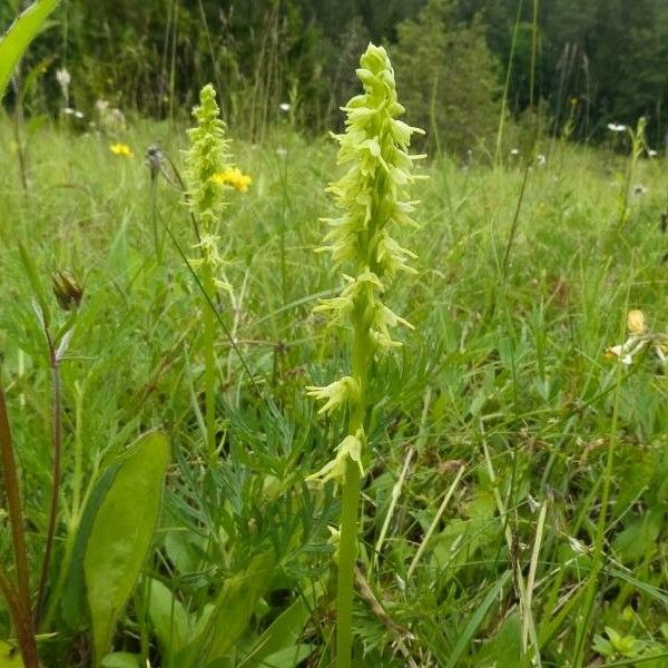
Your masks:
M206 293L203 304L205 426L207 451L209 458L213 459L216 454L216 360L214 352L215 315L210 304L214 302L217 291L225 289L230 296L234 307L234 295L232 286L225 277L225 258L219 249L220 237L218 235L225 207L224 186L229 184L225 175L233 173L233 166L229 164L229 140L225 136L225 122L218 117L216 90L210 84L200 90L199 106L195 107L193 116L197 119L197 125L188 130L190 148L186 153L187 202L198 222L197 248L200 252L200 258L193 261L193 264L202 269L202 283ZM232 185L234 186L234 184Z

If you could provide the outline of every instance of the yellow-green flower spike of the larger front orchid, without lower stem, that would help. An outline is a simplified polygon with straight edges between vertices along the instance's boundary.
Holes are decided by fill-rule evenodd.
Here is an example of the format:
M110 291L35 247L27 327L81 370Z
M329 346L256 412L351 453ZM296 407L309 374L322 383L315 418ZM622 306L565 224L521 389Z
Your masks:
M332 312L336 322L353 325L353 373L324 387L307 389L308 394L326 401L321 413L347 404L351 416L364 412L366 375L377 348L401 345L390 334L397 324L412 327L385 306L381 296L385 292L383 279L391 281L399 272L415 273L407 264L415 254L394 240L389 228L418 227L411 217L416 203L409 198L406 187L420 178L412 174L413 161L424 157L407 153L411 136L422 130L399 119L405 110L396 99L394 71L385 49L370 45L356 73L364 92L343 108L347 114L345 132L333 135L340 145L338 164L350 167L327 188L343 214L324 218L332 229L325 246L318 248L328 250L337 265L353 266L356 277L344 274L347 285L341 295L323 299L316 307ZM363 424L354 428L348 434L363 430ZM341 466L337 471L342 473ZM327 470L327 479L332 478Z

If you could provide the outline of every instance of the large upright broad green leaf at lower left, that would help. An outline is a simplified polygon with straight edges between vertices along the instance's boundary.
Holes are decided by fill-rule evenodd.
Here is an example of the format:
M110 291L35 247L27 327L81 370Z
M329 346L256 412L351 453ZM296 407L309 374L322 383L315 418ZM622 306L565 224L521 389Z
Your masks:
M168 462L165 435L143 436L121 462L95 518L84 572L98 666L148 554Z

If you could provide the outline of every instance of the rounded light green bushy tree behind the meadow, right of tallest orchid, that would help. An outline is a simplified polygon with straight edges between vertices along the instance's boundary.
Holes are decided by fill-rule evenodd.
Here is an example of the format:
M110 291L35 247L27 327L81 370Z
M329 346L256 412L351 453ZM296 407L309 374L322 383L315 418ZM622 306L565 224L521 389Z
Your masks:
M397 85L428 150L489 151L499 120L499 65L479 17L455 23L451 0L431 0L397 27Z

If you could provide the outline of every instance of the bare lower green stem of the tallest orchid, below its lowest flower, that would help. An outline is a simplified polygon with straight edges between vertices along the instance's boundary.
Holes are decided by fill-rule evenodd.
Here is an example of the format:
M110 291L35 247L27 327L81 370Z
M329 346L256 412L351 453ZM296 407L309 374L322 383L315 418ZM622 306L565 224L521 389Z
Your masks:
M336 667L350 668L353 652L354 567L360 512L360 466L347 459L341 509L338 582L336 591Z

